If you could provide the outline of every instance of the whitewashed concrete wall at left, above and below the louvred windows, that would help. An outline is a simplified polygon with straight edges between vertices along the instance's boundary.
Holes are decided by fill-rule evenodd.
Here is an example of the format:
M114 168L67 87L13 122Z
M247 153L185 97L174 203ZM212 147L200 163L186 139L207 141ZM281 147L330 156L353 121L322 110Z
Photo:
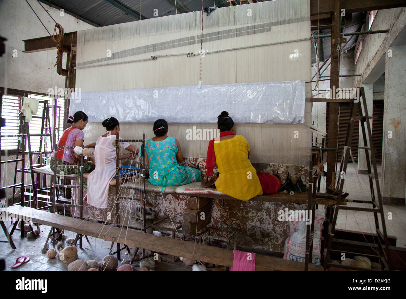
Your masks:
M41 18L48 31L52 34L55 23L44 11L37 1L28 1L37 15ZM43 4L56 22L60 23L65 32L94 28L94 26L82 22L75 17ZM48 88L55 85L65 87L65 76L56 73L56 50L36 53L23 53L23 39L32 39L47 36L48 32L39 22L25 1L0 1L0 35L7 39L6 53L0 57L0 87L27 90L30 92L47 93ZM14 51L13 50L17 50ZM16 57L13 54L16 53ZM15 55L15 54L14 54ZM64 63L66 55L64 55ZM2 160L15 159L14 156L2 157ZM26 157L28 162L28 157ZM6 166L5 166L6 165ZM5 167L4 167L5 166ZM15 163L2 164L1 186L13 184ZM18 165L21 168L21 163ZM30 183L29 174L26 174L26 183ZM17 175L17 183L21 182L21 176ZM19 190L16 190L16 193ZM10 198L12 189L6 191L6 198Z

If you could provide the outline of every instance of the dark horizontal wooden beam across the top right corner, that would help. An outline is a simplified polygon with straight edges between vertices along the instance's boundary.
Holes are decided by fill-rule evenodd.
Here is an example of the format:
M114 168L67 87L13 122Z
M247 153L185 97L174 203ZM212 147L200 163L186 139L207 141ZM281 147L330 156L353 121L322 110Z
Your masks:
M310 14L317 15L317 2L318 14L334 13L334 1L331 0L310 0ZM346 10L346 15L349 13L356 13L362 11L372 11L376 9L391 9L396 7L405 7L404 0L341 0L341 9Z

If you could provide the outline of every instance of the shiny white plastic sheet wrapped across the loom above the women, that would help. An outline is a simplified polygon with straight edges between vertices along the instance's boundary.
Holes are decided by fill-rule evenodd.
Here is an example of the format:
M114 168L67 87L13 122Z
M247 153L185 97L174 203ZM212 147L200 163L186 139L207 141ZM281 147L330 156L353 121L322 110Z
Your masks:
M90 122L208 123L225 110L238 124L302 124L305 91L304 81L78 91L69 113L84 111Z

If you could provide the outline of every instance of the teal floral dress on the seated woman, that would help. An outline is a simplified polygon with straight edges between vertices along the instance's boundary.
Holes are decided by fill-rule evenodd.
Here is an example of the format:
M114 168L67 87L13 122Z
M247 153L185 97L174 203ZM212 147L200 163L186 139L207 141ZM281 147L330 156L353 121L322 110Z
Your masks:
M148 181L151 184L179 186L202 180L199 169L177 164L178 148L174 137L166 137L161 141L149 139L146 142L146 150L149 159Z

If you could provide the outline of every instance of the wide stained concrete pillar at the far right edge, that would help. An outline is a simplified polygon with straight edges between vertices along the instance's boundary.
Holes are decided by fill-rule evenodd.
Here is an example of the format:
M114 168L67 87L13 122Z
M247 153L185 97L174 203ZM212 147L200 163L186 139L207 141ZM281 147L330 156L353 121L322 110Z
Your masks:
M405 57L406 46L396 46L385 58L382 195L385 204L393 205L405 205L406 196Z

